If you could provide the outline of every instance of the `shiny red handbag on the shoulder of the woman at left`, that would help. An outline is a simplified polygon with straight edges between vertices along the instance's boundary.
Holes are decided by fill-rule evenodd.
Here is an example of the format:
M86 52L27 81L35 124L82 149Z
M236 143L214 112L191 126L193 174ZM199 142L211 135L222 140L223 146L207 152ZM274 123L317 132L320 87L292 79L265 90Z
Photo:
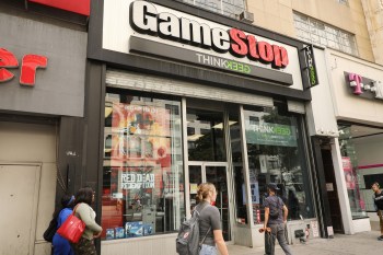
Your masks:
M71 243L78 243L85 230L85 223L74 216L76 209L79 205L74 207L72 215L70 215L67 220L57 230L57 233L68 240Z

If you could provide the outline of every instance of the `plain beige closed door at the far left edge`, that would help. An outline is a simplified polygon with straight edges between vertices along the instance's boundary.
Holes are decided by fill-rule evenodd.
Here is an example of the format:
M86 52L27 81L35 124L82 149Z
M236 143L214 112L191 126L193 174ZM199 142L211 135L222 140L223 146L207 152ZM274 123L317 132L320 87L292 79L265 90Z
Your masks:
M0 164L0 254L34 254L40 166Z

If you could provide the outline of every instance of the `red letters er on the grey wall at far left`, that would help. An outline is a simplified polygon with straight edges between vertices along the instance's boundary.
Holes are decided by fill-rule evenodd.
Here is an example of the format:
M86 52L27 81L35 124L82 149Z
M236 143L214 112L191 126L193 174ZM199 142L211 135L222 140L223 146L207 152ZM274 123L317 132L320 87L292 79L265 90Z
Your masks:
M21 63L20 84L34 86L36 83L37 68L46 68L48 58L45 56L28 54L25 55ZM18 58L9 50L0 48L0 82L11 80L14 74L5 68L18 68Z

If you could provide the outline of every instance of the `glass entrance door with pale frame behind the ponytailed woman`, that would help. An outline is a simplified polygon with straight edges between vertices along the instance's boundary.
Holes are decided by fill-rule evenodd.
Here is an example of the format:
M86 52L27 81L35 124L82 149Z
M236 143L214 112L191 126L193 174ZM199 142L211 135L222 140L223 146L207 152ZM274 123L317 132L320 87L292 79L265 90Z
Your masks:
M190 206L196 206L197 186L212 183L217 189L216 207L220 211L224 241L231 241L228 166L217 162L189 162Z

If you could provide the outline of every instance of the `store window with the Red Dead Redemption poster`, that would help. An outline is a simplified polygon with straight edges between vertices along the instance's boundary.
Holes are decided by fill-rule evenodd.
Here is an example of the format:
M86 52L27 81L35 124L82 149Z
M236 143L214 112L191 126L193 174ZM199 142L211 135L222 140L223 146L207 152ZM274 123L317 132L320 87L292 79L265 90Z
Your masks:
M181 101L108 92L104 240L174 232L185 217Z

